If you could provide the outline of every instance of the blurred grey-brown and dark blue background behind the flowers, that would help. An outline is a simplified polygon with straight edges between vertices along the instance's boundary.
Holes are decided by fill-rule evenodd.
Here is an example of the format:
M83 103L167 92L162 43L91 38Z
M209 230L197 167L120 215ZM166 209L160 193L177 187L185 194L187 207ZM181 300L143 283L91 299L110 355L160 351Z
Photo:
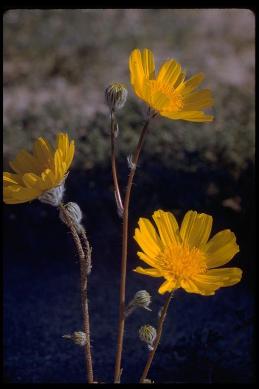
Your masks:
M178 290L148 378L155 382L252 380L254 292L254 15L246 9L10 10L4 14L4 170L20 148L62 131L75 140L65 201L84 214L93 269L89 279L94 374L112 382L118 322L121 219L110 171L110 119L104 90L128 88L116 139L122 192L126 155L135 151L143 105L130 85L132 50L151 49L156 67L175 58L187 79L203 72L214 121L155 120L144 142L130 204L126 300L140 289L152 312L126 321L121 382L138 382L148 349L138 337L157 325L160 279L133 273L139 217L157 209L181 223L193 209L213 217L211 236L231 229L241 282L215 296ZM4 205L5 382L85 382L83 349L63 334L82 330L78 257L56 209L33 201Z

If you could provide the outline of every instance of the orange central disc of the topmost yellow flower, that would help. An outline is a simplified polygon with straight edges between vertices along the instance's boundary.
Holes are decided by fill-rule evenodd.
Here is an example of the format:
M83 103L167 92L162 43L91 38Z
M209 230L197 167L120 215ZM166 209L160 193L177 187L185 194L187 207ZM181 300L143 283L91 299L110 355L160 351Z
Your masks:
M174 87L171 87L169 84L164 84L157 80L150 80L149 84L151 86L152 101L156 101L155 95L157 92L160 92L159 100L165 100L161 107L161 104L158 103L159 107L154 106L154 108L158 109L159 111L179 111L181 108L183 108L183 97L175 90ZM157 103L155 102L154 105L157 105Z

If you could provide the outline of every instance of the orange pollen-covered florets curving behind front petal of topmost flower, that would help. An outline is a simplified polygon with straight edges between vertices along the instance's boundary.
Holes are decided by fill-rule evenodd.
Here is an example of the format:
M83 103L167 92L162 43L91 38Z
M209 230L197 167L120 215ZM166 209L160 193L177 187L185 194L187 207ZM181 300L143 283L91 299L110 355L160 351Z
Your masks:
M167 106L166 109L159 109L159 111L179 111L183 108L183 97L174 87L157 80L150 80L149 84L151 86L151 96L154 96L157 92L161 92L169 100L169 106Z

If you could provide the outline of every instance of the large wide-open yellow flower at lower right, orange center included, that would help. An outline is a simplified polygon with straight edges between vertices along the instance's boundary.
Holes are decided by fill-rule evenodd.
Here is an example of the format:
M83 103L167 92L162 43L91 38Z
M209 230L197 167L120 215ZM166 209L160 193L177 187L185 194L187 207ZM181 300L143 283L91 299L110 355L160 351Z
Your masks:
M158 292L164 294L176 288L209 296L222 286L231 286L241 279L237 267L214 269L229 262L239 251L236 237L229 229L208 241L212 217L196 211L186 213L179 230L170 212L158 210L153 214L157 234L148 219L140 218L135 240L143 252L138 256L151 268L138 266L134 271L166 280ZM207 242L208 241L208 242Z

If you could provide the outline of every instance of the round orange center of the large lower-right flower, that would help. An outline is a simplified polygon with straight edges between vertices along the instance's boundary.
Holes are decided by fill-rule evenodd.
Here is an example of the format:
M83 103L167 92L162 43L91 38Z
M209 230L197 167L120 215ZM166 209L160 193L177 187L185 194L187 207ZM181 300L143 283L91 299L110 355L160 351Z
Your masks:
M158 255L158 260L165 270L165 276L173 280L192 279L207 270L205 257L200 249L193 247L190 250L189 245L184 243L165 247Z

